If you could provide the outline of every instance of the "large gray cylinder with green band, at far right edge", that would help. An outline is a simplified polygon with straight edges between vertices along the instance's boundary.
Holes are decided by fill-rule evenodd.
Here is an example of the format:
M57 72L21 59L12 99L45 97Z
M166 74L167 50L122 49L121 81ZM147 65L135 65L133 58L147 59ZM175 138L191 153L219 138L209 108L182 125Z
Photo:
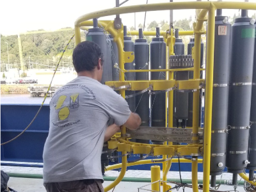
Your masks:
M244 12L246 10L242 10ZM243 14L242 14L243 15ZM243 173L248 164L248 140L252 99L255 26L252 19L241 17L232 26L232 62L228 106L227 170ZM236 184L236 180L233 180Z

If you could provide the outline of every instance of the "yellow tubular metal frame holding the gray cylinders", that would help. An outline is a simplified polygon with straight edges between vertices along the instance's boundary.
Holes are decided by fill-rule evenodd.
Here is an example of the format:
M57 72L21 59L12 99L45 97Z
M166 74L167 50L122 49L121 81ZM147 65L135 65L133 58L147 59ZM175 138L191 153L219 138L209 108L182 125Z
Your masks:
M81 42L81 33L80 28L85 28L86 26L92 26L93 18L99 18L109 15L117 15L123 13L134 13L134 12L150 12L156 10L184 10L184 9L197 9L196 14L196 23L193 25L193 31L180 31L179 35L195 35L195 47L193 49L193 57L195 61L195 67L189 68L186 70L194 71L194 82L202 81L200 79L200 40L201 35L205 34L203 23L205 20L208 21L208 30L207 30L207 61L206 61L206 76L205 76L205 129L204 129L204 189L203 192L209 192L209 175L210 175L210 159L211 159L211 123L212 123L212 85L213 85L213 64L214 64L214 25L215 25L215 10L216 9L244 9L244 10L256 10L256 3L237 3L237 2L221 2L221 1L207 1L207 2L180 2L180 3L156 3L156 4L140 4L135 6L123 6L118 8L111 8L108 10L97 11L93 13L88 13L79 17L75 22L75 34L76 34L76 44ZM208 14L208 16L207 16ZM132 83L131 81L125 81L124 72L138 72L138 70L129 70L126 71L124 69L124 63L127 60L125 56L131 53L124 52L124 38L123 38L123 28L115 29L113 25L113 21L99 21L99 24L104 27L106 31L108 31L111 35L113 35L114 41L118 47L118 56L119 56L119 66L123 72L120 72L120 81L119 82L108 82L107 84L116 86L119 84L131 84L131 87L135 87L136 90L142 90L143 87L148 86L152 81L149 82L138 82ZM156 32L148 32L144 31L144 35L154 36ZM128 31L128 34L138 35L137 31ZM173 45L175 43L175 38L173 37L173 30L169 32L161 31L161 35L164 36L164 41L168 46L168 56L173 55ZM166 56L166 60L168 60ZM144 71L164 71L168 74L168 78L166 76L166 81L154 81L154 86L158 86L158 90L162 90L162 88L166 88L166 83L168 82L168 86L171 84L175 84L173 81L173 71L168 69L166 65L166 69L164 70L140 70L140 72ZM184 86L191 87L189 83L192 81L184 81ZM177 83L177 82L176 82ZM162 85L165 84L165 85ZM120 90L122 97L125 97L125 90ZM193 93L193 145L187 145L186 147L180 147L179 145L172 145L172 143L165 142L164 145L147 145L141 143L132 143L127 138L126 129L122 127L121 135L115 136L110 141L111 147L118 147L118 151L122 151L122 154L125 154L127 150L134 148L137 152L148 152L149 148L154 148L157 152L161 151L163 155L163 161L168 156L172 156L174 152L179 152L181 154L188 154L191 151L193 152L201 152L202 145L198 145L198 115L199 115L199 93ZM173 125L173 91L168 92L168 127L172 127ZM167 106L167 105L166 105ZM167 116L166 116L167 117ZM167 118L166 118L167 119ZM167 122L166 122L167 126ZM119 143L119 144L118 144ZM122 145L121 145L122 144ZM138 147L141 146L141 147ZM145 148L143 148L145 146ZM165 148L169 148L169 150L173 152L169 152ZM168 151L168 152L167 152ZM192 165L192 185L193 191L198 192L198 183L197 183L197 164L202 163L202 159L193 158L193 161L188 161L186 159L180 159L181 163L191 163ZM109 191L114 188L124 177L127 166L132 166L136 164L148 164L152 163L151 160L143 160L138 161L136 163L127 163L127 156L122 157L122 164L115 164L113 166L109 166L106 170L111 170L114 168L122 167L120 175L118 178L109 186L107 186L104 191ZM172 163L177 163L177 159L172 159L172 161L164 161L163 162L163 180L166 180L166 174L170 169ZM240 176L250 182L246 174L241 173ZM253 186L256 186L255 182L250 182ZM163 184L163 189L166 190L170 188L166 184Z

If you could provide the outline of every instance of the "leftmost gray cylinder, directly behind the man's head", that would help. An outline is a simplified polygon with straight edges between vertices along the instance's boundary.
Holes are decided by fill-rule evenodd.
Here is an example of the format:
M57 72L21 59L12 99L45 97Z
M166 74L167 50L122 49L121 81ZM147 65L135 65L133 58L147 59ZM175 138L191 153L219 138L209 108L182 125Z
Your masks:
M105 84L106 81L112 81L112 62L111 51L108 45L111 44L111 42L107 42L106 35L103 31L104 30L102 28L98 28L98 20L93 19L93 28L88 29L86 40L90 42L95 42L95 44L99 45L101 49L104 60L104 70L100 83Z

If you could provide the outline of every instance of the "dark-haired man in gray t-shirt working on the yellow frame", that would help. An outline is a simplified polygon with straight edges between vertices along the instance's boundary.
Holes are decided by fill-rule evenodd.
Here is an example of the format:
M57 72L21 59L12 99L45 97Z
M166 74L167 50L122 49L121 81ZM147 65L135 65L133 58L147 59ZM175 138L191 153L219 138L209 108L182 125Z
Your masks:
M104 141L120 125L138 129L140 116L127 102L100 83L103 72L100 47L78 44L73 52L77 78L54 93L50 102L50 129L44 147L44 186L47 191L104 191L100 155ZM110 119L115 124L107 127Z

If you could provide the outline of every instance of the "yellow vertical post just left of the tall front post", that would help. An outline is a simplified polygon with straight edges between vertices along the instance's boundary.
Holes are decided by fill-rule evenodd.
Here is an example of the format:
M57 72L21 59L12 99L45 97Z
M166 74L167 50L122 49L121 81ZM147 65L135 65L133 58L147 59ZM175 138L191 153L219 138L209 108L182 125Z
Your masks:
M200 79L201 35L195 34L194 79ZM193 143L198 143L199 90L193 93Z

